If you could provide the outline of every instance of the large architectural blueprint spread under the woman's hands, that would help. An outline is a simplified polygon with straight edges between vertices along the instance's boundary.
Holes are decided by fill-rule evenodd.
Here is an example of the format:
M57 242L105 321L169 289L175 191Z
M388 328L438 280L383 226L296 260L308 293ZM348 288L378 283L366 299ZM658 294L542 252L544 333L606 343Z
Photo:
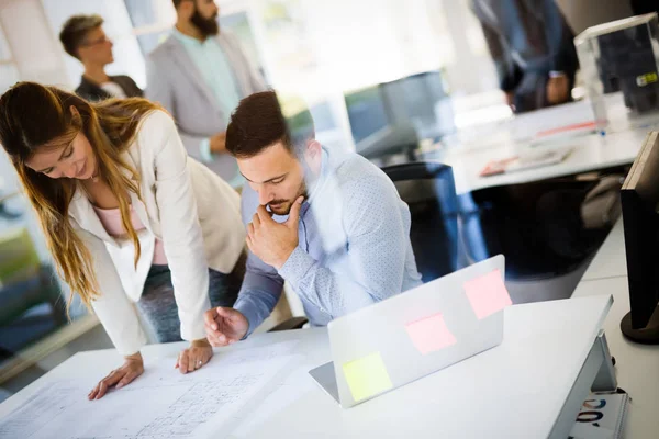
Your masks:
M130 385L87 401L75 380L52 382L0 420L0 438L188 439L220 437L238 410L294 362L295 342L220 352L194 373L171 359L147 367ZM266 392L267 393L267 392Z

